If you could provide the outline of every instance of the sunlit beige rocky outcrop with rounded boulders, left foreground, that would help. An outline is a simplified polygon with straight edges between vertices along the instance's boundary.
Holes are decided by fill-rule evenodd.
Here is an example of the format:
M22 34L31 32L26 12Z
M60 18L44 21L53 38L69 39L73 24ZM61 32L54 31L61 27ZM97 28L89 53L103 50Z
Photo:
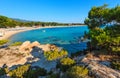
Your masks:
M13 65L25 64L26 62L35 62L44 51L55 50L55 45L40 45L39 42L25 41L21 46L11 46L0 49L0 67L4 64L11 67ZM35 56L37 55L37 57Z

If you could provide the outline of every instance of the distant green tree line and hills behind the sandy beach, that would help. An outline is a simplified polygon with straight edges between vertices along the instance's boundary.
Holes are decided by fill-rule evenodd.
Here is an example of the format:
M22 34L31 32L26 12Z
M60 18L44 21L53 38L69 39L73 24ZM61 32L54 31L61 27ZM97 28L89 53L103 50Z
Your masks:
M0 15L0 28L8 28L15 26L68 26L68 25L83 25L81 23L57 23L57 22L35 22L25 21L20 19L11 19Z

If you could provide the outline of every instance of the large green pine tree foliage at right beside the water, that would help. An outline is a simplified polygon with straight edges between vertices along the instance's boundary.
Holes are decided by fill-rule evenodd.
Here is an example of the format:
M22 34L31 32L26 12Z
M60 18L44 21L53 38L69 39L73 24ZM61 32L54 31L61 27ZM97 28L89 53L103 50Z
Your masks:
M120 6L107 8L107 5L93 7L85 24L90 31L91 49L105 49L109 54L120 53ZM101 28L104 27L104 28Z

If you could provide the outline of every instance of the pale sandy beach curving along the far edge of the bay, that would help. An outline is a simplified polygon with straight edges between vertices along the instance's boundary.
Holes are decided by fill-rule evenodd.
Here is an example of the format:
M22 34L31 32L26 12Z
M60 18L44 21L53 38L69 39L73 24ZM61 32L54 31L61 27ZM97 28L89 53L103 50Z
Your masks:
M36 30L36 29L43 29L43 28L59 28L59 27L79 27L79 26L86 26L86 25L72 25L72 26L45 26L45 27L19 27L19 28L4 28L4 29L0 29L0 31L4 32L4 35L2 37L0 37L0 40L6 40L10 37L12 37L15 34L21 33L21 32L25 32L25 31L30 31L30 30Z

